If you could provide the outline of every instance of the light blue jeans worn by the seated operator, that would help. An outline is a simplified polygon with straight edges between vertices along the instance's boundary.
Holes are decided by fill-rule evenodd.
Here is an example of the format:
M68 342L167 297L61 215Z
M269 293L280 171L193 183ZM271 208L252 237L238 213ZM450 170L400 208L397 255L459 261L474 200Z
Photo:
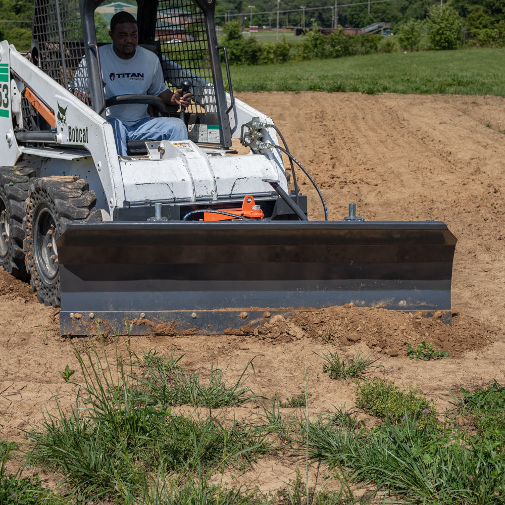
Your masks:
M188 130L179 118L144 118L129 126L116 118L107 118L114 130L119 156L126 156L127 140L185 140Z

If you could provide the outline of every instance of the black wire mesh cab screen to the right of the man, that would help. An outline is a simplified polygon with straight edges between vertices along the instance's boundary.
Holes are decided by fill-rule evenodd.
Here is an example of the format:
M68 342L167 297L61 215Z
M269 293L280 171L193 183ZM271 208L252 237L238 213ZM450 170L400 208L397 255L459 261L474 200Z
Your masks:
M204 13L192 0L159 0L155 39L160 42L165 79L175 87L192 83L188 107L190 140L221 144L217 99Z

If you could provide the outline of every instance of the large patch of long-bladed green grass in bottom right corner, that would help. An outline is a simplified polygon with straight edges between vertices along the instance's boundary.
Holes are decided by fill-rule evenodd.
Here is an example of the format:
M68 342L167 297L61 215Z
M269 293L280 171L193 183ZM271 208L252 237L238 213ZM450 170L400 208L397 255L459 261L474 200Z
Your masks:
M468 437L453 425L407 416L401 422L386 417L368 430L350 415L309 423L311 460L352 481L373 483L400 503L502 505L502 452L489 439Z

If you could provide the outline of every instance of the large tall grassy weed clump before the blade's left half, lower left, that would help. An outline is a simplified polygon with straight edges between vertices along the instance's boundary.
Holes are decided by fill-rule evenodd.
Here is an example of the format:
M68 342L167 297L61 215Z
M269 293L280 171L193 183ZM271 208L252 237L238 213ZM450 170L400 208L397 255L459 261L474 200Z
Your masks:
M45 415L42 426L34 427L27 436L33 451L31 461L65 475L66 483L77 489L79 500L105 495L116 498L121 482L140 490L144 473L160 465L170 472L193 474L196 469L211 471L223 461L243 467L257 455L273 450L272 437L261 423L225 426L213 417L174 416L171 396L159 394L160 384L150 389L151 382L142 374L138 378L137 357L130 350L125 363L116 351L115 366L103 344L98 349L94 345L84 351L75 349L75 354L84 377L75 408L66 414L58 407L58 414ZM187 378L196 383L193 392L212 389L201 385L196 374L180 369L180 358L163 362L163 367L151 358L153 355L146 360L143 373L151 378L162 373L168 378L172 373L166 389ZM212 399L212 407L227 405L230 398L233 405L245 391L238 381L230 394L218 369L211 369L211 384L213 393L207 397ZM196 398L196 393L191 397Z

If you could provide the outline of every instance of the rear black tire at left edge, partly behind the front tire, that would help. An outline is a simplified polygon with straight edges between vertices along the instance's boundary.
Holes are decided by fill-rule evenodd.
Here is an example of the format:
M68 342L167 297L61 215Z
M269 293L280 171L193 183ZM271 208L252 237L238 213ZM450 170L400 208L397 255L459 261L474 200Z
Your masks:
M23 240L25 200L35 171L28 167L0 167L0 266L27 280Z

